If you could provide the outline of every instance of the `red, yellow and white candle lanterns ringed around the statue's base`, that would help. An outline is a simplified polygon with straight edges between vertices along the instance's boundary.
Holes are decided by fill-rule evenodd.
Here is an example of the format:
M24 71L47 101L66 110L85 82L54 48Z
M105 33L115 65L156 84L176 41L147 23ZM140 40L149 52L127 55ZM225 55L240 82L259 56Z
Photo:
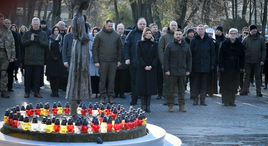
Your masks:
M48 104L45 104L48 105ZM53 109L56 109L56 103L54 103ZM60 102L58 103L60 105ZM91 107L92 103L89 104L89 107ZM27 107L30 106L27 105ZM39 104L40 106L40 104ZM67 108L69 105L66 103L65 108ZM31 131L40 131L40 132L59 132L59 133L88 133L89 130L89 122L86 118L82 117L76 120L76 122L71 117L63 117L61 119L56 118L55 116L51 118L48 118L47 115L43 116L43 119L41 122L38 122L37 115L34 115L32 122L29 122L29 116L31 116L31 110L27 113L25 110L25 116L22 115L23 107L21 107L22 110L18 110L17 108L12 108L13 110L7 109L4 115L4 123L9 123L10 126L13 128L19 128L23 130L31 130ZM38 105L37 105L38 107ZM46 107L46 106L45 106ZM133 107L131 106L129 109L129 112L125 111L124 107L121 105L118 105L117 108L115 108L115 105L113 105L110 108L110 105L107 104L106 109L104 109L104 105L101 104L98 107L97 103L94 104L91 108L88 108L89 115L93 116L92 122L91 122L91 131L93 132L108 132L108 131L120 131L123 127L126 130L133 129L137 126L145 126L147 123L147 117L144 111L138 109L135 111ZM57 108L60 108L57 106ZM62 107L61 107L62 108ZM65 109L64 108L64 109ZM79 109L81 108L81 109ZM49 106L47 108L44 108L45 110L50 110ZM79 105L77 108L77 111L82 113L85 109L85 104ZM36 110L34 110L36 112ZM55 111L55 110L54 110ZM58 111L58 110L57 110ZM36 114L39 112L36 112ZM56 113L56 111L55 111ZM41 115L41 114L40 114ZM99 118L98 118L99 117ZM68 121L68 122L67 122Z

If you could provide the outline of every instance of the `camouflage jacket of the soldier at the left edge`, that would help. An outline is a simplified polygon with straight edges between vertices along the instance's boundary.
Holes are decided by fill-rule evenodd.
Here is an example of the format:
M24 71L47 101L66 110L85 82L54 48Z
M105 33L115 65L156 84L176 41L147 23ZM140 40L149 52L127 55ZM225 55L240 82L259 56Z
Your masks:
M4 46L8 60L16 57L15 41L11 31L6 25L3 25L3 28L0 28L0 46Z

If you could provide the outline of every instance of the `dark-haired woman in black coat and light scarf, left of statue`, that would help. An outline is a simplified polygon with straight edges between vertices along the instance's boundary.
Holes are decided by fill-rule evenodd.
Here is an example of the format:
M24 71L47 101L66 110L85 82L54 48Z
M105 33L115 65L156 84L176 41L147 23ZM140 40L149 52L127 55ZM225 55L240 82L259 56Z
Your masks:
M46 63L46 76L50 78L50 88L52 90L51 97L58 97L58 88L60 79L63 75L61 45L62 37L59 34L59 29L54 26L51 30L52 35L49 39L49 51Z

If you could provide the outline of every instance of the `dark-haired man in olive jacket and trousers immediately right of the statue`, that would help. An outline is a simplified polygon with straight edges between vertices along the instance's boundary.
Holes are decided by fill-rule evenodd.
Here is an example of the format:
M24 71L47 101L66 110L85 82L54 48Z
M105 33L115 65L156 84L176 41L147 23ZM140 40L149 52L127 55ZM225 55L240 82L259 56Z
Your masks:
M123 59L123 44L121 36L113 29L113 20L107 19L105 25L94 38L92 55L95 66L99 68L99 102L105 104L106 78L108 78L108 100L114 104L116 67Z

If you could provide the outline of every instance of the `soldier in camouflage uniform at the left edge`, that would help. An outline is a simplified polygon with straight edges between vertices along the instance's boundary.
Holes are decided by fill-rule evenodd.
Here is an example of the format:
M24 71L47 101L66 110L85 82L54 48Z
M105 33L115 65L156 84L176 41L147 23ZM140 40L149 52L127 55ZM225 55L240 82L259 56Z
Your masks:
M15 58L15 42L11 31L3 24L4 16L0 14L0 91L1 97L9 98L6 95L6 70L9 62Z

